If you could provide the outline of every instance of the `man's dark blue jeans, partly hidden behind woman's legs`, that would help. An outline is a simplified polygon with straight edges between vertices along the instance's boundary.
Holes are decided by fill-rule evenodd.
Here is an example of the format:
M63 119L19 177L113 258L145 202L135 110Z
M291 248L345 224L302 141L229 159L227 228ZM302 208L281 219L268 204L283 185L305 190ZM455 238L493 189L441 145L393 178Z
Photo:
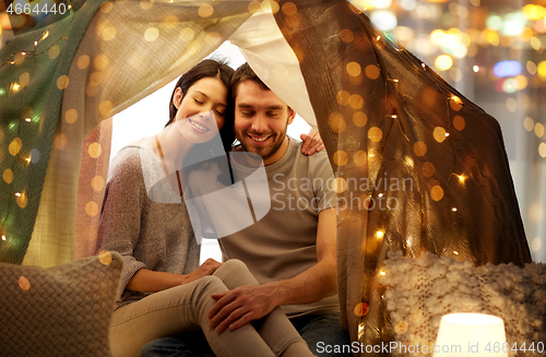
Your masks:
M343 350L344 345L347 352L351 345L348 332L340 328L339 313L295 318L290 321L317 356L351 356L351 353L335 353L335 349ZM140 357L214 357L214 354L199 331L154 340L142 348Z

